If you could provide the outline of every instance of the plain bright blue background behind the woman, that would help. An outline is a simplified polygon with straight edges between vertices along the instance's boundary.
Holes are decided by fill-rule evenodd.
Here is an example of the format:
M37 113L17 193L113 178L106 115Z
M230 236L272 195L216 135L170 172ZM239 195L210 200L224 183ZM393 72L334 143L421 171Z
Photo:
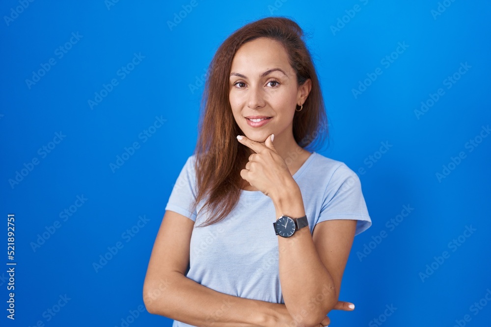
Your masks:
M330 120L329 146L319 152L359 174L373 220L356 236L343 279L341 300L356 309L330 313L331 326L454 326L465 315L466 326L489 326L491 302L482 301L477 314L471 308L491 289L489 1L447 0L441 13L436 0L197 0L195 7L24 1L25 9L21 2L0 4L1 326L121 326L143 304L164 207L194 149L200 78L229 34L271 15L295 19L308 34ZM169 27L183 5L191 12ZM71 38L77 42L60 58L56 49ZM407 49L393 53L399 42ZM135 53L144 58L122 79L118 70ZM387 67L382 59L391 54L397 59ZM26 79L50 58L55 65L29 87ZM464 75L461 63L470 66ZM355 97L353 89L377 68L382 74ZM455 73L459 79L447 88ZM113 78L117 85L91 108L88 101ZM431 104L439 88L444 94L418 115L421 101ZM145 139L140 133L156 117L165 122ZM55 133L66 136L60 142ZM481 142L470 151L470 140ZM139 149L111 169L134 142ZM391 147L377 153L382 142ZM461 151L464 159L438 180ZM33 158L39 162L29 171ZM9 182L17 172L25 176ZM80 207L77 196L87 199ZM413 210L389 227L404 205ZM60 212L70 206L77 210L63 221ZM9 213L16 228L15 321L5 310ZM135 228L139 216L147 221ZM475 229L469 237L461 236L466 226ZM128 236L132 227L137 232ZM55 233L46 234L50 228ZM49 238L33 248L43 233ZM458 247L449 245L454 239ZM122 248L95 269L117 242ZM365 245L372 249L363 256ZM447 258L437 263L444 251ZM426 265L436 269L421 277ZM70 300L55 316L45 313L65 294ZM397 309L388 316L386 305ZM146 311L130 324L170 325Z

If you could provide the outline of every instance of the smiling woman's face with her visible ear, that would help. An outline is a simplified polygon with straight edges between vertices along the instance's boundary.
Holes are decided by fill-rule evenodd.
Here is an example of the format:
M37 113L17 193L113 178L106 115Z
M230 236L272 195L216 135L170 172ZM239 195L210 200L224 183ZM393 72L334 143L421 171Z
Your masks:
M258 142L271 134L275 142L293 139L295 108L305 101L310 84L298 87L279 42L258 38L244 44L232 61L229 82L232 113L246 137Z

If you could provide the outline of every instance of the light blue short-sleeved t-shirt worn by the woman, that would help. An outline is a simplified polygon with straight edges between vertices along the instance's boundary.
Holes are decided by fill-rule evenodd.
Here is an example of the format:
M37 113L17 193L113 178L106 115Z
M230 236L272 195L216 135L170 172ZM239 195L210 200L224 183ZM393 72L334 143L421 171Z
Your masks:
M242 190L224 220L196 227L208 216L205 210L196 215L204 201L192 209L197 194L194 160L195 155L188 158L165 206L195 222L186 276L221 293L284 303L273 201L261 191ZM357 220L355 235L371 226L360 180L344 163L312 152L293 178L300 186L311 233L316 224L332 219ZM213 319L212 313L206 318ZM174 321L172 326L191 325Z

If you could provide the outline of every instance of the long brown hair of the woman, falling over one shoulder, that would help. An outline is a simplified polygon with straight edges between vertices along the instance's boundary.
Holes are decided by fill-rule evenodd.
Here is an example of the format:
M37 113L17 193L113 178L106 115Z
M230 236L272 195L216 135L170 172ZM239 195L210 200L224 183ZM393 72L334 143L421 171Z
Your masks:
M247 182L240 176L249 151L237 142L244 135L235 122L229 102L229 75L235 53L245 43L266 37L280 42L288 53L290 65L297 73L298 85L308 78L312 89L303 110L295 112L293 136L304 149L322 144L328 135L324 100L314 64L303 41L303 31L294 21L268 17L249 23L230 35L218 48L208 70L201 103L199 137L194 151L197 195L196 203L207 199L202 209L211 213L200 226L223 220L237 204ZM322 129L321 132L318 129ZM195 203L195 204L196 204Z

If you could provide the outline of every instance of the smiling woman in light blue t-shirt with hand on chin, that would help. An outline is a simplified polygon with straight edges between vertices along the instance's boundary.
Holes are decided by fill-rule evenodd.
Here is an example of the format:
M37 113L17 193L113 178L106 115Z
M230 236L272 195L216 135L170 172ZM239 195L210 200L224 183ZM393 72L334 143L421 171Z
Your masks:
M338 302L341 279L371 220L356 174L306 150L327 118L301 37L266 18L213 58L143 287L148 312L173 326L327 326L330 310L354 307Z

